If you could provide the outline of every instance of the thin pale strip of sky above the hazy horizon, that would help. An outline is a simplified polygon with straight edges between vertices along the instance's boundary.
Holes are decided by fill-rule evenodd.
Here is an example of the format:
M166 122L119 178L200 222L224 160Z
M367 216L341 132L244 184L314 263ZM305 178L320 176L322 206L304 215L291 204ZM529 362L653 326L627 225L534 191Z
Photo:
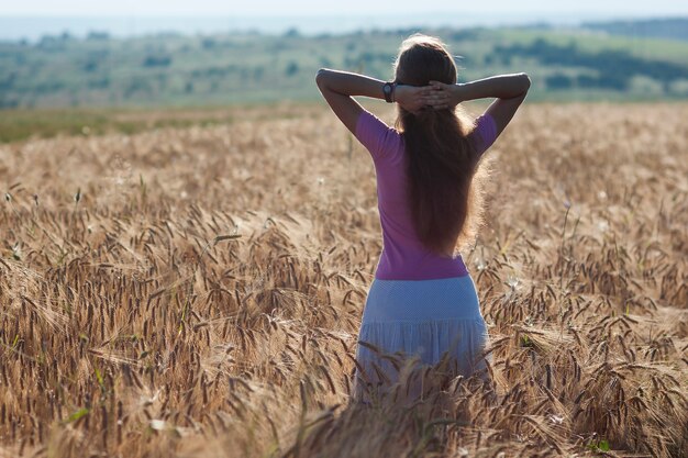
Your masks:
M688 15L688 1L680 0L455 0L433 3L430 9L428 4L419 0L0 0L0 15L367 15L432 11L467 14L576 12L606 16Z

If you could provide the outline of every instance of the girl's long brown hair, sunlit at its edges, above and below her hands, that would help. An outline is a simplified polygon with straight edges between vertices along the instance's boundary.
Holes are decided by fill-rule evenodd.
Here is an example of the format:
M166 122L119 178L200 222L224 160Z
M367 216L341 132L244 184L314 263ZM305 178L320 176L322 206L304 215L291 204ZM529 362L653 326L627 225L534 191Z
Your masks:
M401 44L395 72L400 85L453 85L457 68L440 40L415 34ZM453 255L474 235L481 206L477 155L467 139L470 120L454 109L411 113L399 107L397 127L406 144L417 235L431 252Z

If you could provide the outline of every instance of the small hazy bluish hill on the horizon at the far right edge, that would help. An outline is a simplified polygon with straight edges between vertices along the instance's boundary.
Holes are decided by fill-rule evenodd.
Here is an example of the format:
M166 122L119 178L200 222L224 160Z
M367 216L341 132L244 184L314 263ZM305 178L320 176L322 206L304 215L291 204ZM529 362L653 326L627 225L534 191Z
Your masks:
M593 22L584 23L582 27L603 31L612 35L688 41L688 18Z

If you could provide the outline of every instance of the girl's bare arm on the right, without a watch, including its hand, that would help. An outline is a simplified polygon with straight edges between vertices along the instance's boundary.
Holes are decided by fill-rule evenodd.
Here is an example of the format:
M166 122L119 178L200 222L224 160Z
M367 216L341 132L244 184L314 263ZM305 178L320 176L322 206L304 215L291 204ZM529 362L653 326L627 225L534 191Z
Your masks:
M457 85L431 81L431 86L435 90L429 103L436 109L454 107L466 100L497 98L485 112L495 120L499 136L525 100L531 80L525 74L512 74Z

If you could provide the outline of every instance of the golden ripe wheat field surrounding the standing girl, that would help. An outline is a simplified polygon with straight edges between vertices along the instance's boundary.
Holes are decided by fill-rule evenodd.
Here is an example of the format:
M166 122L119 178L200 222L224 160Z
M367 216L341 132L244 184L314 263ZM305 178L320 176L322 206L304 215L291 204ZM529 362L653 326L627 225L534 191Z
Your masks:
M242 115L0 145L0 457L688 455L687 104L526 104L464 253L497 395L373 407L373 161L324 107Z

